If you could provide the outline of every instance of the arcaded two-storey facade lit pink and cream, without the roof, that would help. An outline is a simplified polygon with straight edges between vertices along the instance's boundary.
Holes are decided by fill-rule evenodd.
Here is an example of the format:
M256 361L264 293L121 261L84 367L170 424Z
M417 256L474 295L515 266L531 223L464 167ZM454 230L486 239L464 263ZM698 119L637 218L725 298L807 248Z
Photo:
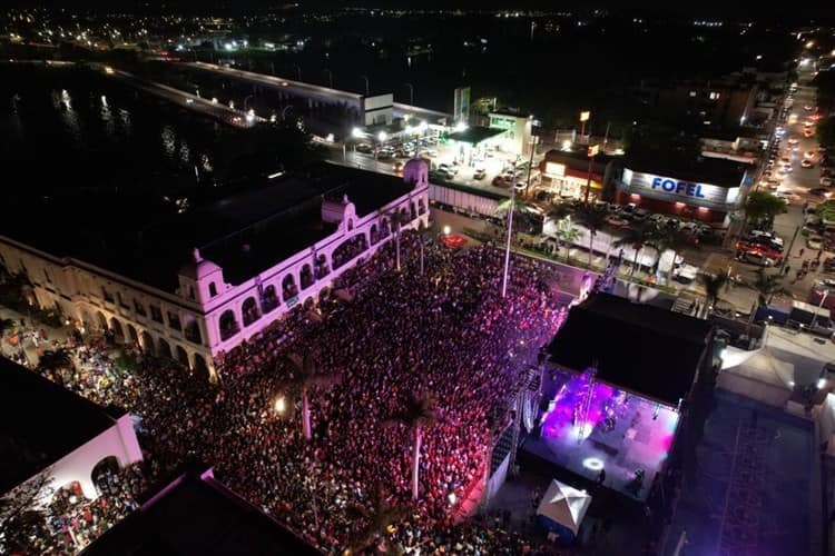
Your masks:
M403 175L413 189L369 215L357 216L347 198L323 201L322 219L337 224L336 231L237 285L227 284L223 268L197 249L193 261L184 261L175 294L2 236L0 265L29 278L30 302L57 306L82 332L110 330L117 341L138 342L216 379L215 355L259 332L296 304L315 302L337 276L393 237L394 212L411 217L404 228L429 226L425 162L410 161Z

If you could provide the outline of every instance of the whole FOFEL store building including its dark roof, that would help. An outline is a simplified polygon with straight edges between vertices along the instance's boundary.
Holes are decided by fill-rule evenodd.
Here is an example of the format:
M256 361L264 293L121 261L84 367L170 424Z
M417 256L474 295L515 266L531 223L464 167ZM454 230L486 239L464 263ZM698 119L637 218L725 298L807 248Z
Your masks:
M627 157L612 179L613 200L725 228L753 177L754 168L736 160Z

